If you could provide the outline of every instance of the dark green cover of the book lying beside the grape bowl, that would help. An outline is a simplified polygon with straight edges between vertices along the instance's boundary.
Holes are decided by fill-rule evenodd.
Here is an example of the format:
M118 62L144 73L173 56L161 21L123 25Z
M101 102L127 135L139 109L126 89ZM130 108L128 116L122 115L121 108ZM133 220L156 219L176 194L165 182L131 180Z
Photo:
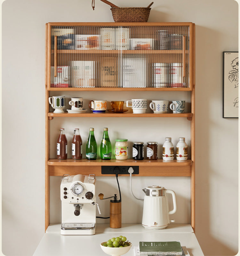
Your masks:
M140 252L170 252L172 255L182 255L180 241L170 242L139 242Z

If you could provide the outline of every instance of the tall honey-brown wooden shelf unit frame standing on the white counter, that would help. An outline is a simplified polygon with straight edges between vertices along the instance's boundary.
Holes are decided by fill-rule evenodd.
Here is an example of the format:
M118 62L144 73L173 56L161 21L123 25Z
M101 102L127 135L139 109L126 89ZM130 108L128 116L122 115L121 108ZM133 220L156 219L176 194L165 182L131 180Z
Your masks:
M51 42L51 28L52 26L99 26L99 27L156 27L164 26L173 28L179 28L181 26L186 26L189 29L189 44L188 49L183 50L52 50ZM190 177L191 181L191 226L195 230L195 24L190 22L181 22L181 23L116 23L116 22L105 22L105 23L79 23L79 22L53 22L46 23L45 25L45 230L50 223L50 176L62 176L63 174L69 173L70 175L75 174L92 174L95 173L96 176L111 176L101 174L101 166L104 165L132 165L139 166L139 174L137 176L187 176ZM141 38L141 37L139 37ZM186 88L122 88L122 87L95 87L95 88L53 88L51 84L51 66L54 66L53 61L57 60L58 55L68 55L69 56L100 56L100 55L114 55L122 56L124 54L146 54L150 56L153 60L160 60L163 56L167 56L167 60L171 56L176 55L179 58L182 58L182 61L186 61L185 58L188 56L188 68L189 74L187 74L188 87ZM53 57L54 56L54 57ZM84 57L85 58L85 57ZM56 65L56 64L55 64ZM166 92L190 92L191 93L191 113L183 114L154 114L154 113L145 113L145 114L133 114L133 113L104 113L104 114L93 114L93 113L82 113L82 114L55 114L50 112L48 98L50 92L68 92L68 91L166 91ZM169 161L164 162L161 159L156 161L142 160L135 161L128 159L125 161L119 160L93 160L89 161L86 159L82 160L58 160L50 159L50 123L53 117L187 117L191 122L191 159L187 161ZM176 119L178 120L178 119ZM150 170L150 171L149 171ZM66 172L67 171L67 172Z

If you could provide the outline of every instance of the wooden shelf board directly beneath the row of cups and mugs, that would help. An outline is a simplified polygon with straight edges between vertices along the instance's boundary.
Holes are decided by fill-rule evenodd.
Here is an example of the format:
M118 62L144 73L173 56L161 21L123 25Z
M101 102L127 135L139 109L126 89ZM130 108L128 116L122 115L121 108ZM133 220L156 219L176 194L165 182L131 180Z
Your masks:
M133 114L133 113L110 113L106 111L106 113L91 113L86 112L82 114L70 114L70 113L53 113L49 112L48 116L51 117L192 117L192 113L163 113L163 114L155 114L155 113L144 113L144 114Z

